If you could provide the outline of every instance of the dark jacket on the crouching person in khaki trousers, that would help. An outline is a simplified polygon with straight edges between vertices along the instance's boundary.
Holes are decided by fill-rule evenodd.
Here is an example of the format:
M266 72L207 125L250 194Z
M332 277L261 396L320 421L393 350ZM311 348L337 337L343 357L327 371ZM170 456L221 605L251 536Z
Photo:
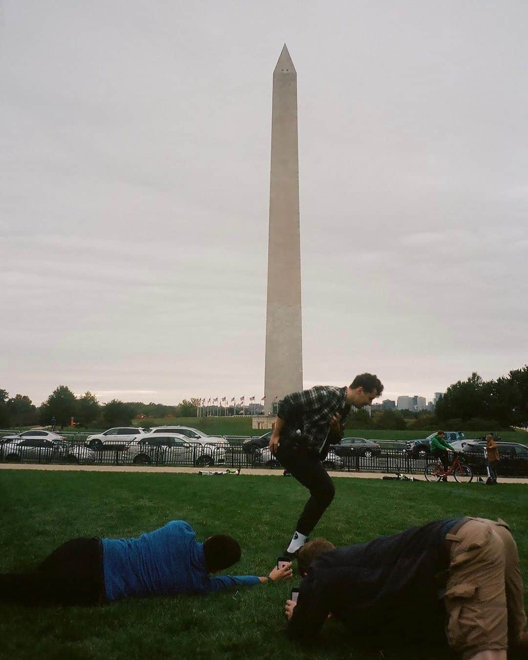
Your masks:
M401 636L402 629L432 630L436 622L442 632L444 541L458 520L411 527L319 555L301 583L289 634L313 638L329 613L358 636Z

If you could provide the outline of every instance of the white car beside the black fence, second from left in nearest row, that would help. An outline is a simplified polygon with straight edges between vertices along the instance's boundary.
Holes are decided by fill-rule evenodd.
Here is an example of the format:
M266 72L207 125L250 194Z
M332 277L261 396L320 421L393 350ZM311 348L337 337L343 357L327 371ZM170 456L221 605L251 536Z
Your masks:
M127 462L134 465L183 463L197 467L224 463L225 458L224 447L189 442L185 436L178 434L154 433L132 440L125 455Z

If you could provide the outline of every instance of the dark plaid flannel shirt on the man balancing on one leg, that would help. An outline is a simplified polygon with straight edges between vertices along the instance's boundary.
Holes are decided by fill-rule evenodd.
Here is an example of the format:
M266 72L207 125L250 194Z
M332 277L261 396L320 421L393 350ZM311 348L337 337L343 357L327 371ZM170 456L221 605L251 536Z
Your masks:
M339 433L330 430L330 420L341 415ZM279 401L279 417L284 420L281 442L298 444L312 453L321 453L327 438L338 444L343 438L345 420L350 414L347 387L315 385L312 389L288 394ZM300 433L298 431L300 430Z

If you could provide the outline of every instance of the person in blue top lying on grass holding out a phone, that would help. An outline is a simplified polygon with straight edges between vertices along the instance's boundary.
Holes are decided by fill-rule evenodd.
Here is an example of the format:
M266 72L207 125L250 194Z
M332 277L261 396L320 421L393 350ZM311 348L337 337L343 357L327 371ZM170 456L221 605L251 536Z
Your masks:
M265 577L215 576L240 560L240 545L217 534L203 543L183 520L137 539L66 541L36 569L0 574L0 602L23 605L98 605L130 596L205 594L292 577L292 565Z

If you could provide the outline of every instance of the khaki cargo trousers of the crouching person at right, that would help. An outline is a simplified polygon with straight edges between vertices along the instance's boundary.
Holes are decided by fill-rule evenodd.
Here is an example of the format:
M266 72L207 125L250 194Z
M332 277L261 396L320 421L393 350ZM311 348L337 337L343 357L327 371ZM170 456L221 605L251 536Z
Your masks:
M479 651L508 649L525 625L519 553L499 519L471 518L451 542L444 603L447 642L467 660Z

